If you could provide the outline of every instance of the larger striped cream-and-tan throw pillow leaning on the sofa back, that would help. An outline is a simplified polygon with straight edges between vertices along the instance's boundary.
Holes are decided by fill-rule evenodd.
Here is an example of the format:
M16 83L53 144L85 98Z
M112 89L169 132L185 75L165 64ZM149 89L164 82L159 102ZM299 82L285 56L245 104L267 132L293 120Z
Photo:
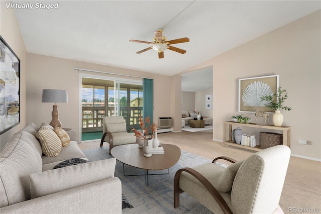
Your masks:
M49 157L57 157L61 151L61 140L58 135L46 126L39 128L36 137L41 144L42 152Z

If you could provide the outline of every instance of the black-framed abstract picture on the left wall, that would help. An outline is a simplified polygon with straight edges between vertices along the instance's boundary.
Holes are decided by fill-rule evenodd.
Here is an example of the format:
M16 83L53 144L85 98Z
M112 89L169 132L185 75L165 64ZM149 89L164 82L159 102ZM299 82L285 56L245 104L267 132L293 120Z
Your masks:
M0 135L20 123L20 59L0 36Z

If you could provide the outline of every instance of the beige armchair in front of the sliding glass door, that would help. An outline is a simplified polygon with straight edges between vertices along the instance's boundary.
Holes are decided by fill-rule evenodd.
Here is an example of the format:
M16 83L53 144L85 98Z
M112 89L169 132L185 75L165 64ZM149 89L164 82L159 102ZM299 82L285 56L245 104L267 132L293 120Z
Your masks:
M104 142L109 143L109 154L114 146L136 142L134 133L129 133L131 129L126 131L126 123L122 116L104 117L102 129L103 135L100 147L102 147Z

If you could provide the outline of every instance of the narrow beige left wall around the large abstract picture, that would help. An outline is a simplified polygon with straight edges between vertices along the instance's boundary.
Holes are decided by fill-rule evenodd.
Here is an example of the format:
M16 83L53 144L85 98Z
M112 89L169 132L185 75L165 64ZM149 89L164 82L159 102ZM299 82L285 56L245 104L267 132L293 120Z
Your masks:
M20 124L0 136L2 150L13 134L26 125L26 48L13 9L6 9L6 2L0 1L0 35L20 59Z

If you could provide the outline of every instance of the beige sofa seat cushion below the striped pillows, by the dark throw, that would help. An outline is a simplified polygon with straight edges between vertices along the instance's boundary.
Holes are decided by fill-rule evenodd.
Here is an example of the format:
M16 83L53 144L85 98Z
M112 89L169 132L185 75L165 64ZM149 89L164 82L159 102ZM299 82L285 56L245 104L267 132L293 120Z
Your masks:
M48 157L48 156L43 155L41 158L42 158L43 165L46 165L46 164L54 163L57 161L61 162L61 161L64 161L64 160L67 160L70 158L85 158L86 159L86 156L79 148L77 142L70 141L69 146L61 148L61 152L59 153L59 155L57 157ZM52 166L50 169L52 169L54 166Z

